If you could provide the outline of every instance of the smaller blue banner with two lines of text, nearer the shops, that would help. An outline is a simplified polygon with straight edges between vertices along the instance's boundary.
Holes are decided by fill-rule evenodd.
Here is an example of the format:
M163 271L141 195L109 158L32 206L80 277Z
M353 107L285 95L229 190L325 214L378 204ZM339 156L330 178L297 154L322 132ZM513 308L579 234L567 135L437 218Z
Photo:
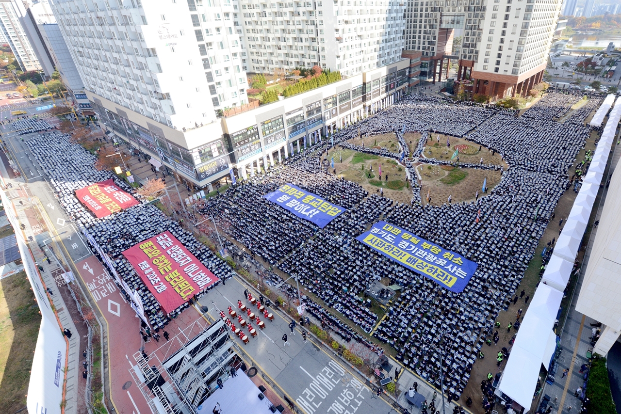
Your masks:
M263 197L289 210L297 217L315 223L320 228L324 228L345 211L343 207L332 204L317 194L304 191L293 184L284 184L278 190Z

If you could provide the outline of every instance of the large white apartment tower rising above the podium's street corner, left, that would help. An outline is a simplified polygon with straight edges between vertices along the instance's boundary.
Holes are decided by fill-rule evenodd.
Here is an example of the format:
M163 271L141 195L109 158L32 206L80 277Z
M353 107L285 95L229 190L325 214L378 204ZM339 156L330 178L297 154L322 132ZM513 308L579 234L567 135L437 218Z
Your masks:
M53 8L94 98L178 130L248 101L230 2L58 0Z

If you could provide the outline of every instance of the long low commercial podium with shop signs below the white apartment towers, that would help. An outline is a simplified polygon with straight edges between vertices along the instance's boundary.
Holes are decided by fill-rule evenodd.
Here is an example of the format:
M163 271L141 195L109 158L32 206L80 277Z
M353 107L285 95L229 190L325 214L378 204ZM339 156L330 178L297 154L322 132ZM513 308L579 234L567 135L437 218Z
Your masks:
M87 94L104 128L161 161L179 181L211 191L211 184L227 175L253 176L325 139L328 132L390 106L409 91L410 83L417 83L410 81L411 69L420 65L417 57L418 61L416 56L402 59L186 132Z

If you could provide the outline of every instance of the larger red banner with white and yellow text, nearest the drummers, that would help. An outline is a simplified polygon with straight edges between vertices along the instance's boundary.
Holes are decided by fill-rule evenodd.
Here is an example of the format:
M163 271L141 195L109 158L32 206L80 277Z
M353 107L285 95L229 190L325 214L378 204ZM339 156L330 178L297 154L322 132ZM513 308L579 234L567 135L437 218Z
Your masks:
M166 313L219 281L170 232L130 247L123 256Z

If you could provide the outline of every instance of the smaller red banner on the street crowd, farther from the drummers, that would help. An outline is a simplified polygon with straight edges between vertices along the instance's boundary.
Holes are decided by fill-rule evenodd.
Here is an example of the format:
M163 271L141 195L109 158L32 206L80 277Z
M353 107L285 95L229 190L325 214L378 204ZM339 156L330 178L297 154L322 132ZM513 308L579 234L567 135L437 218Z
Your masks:
M120 189L112 179L76 190L76 197L97 218L106 217L138 204L138 200Z

